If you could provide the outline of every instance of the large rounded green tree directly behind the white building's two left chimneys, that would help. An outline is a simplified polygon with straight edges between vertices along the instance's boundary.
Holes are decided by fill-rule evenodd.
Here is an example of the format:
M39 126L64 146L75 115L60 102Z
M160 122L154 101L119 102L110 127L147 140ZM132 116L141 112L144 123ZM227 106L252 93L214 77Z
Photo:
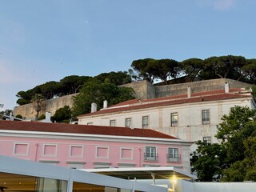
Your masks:
M82 86L80 94L74 97L74 117L89 113L92 102L95 102L100 109L104 100L108 101L109 105L114 105L134 98L133 94L134 91L131 88L119 87L110 82L92 79L90 82L86 82Z

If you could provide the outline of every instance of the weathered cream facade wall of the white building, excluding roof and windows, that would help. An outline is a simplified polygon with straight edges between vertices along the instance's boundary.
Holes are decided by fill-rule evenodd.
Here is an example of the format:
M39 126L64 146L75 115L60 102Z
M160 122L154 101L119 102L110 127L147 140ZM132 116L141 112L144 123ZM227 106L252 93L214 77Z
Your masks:
M95 126L110 126L110 120L115 120L116 126L125 126L126 118L132 119L135 128L142 128L142 117L149 117L149 128L170 134L190 142L211 137L211 142L218 142L217 125L222 122L223 114L228 114L234 106L249 106L255 108L250 96L246 98L229 99L213 102L195 102L172 106L152 107L140 110L123 111L122 113L84 116L78 119L78 124L86 125L92 122ZM202 125L202 110L210 110L210 124ZM178 113L178 126L170 126L170 114ZM191 151L195 146L191 147Z

